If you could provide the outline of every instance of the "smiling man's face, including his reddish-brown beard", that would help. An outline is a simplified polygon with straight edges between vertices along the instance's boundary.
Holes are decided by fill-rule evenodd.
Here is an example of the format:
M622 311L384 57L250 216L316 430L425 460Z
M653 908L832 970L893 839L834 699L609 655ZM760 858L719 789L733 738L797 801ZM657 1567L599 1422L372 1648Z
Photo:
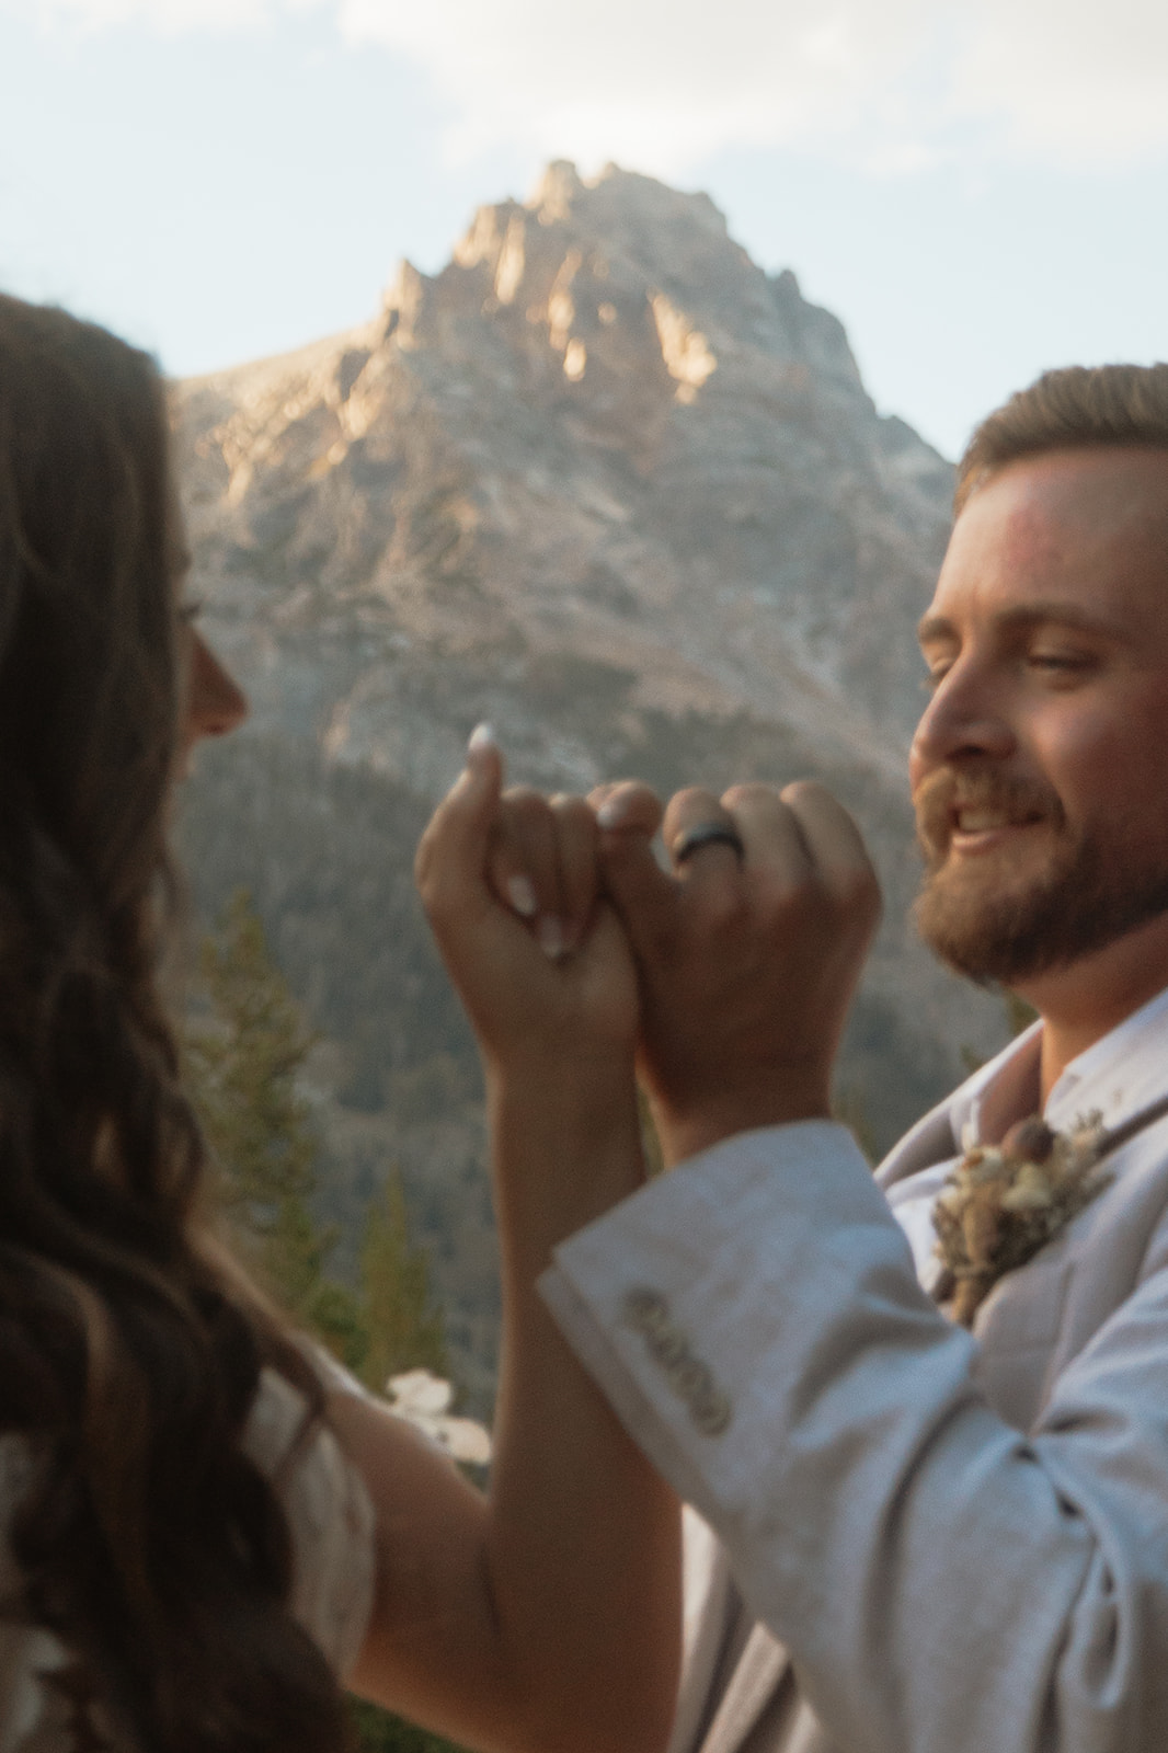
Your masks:
M1007 985L1168 910L1168 449L1014 463L921 622L917 922Z

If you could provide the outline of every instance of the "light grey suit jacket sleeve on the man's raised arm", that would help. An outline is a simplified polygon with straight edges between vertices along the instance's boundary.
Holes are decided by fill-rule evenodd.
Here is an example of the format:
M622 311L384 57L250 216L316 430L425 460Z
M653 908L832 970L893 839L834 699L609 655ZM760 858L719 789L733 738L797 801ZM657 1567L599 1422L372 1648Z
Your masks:
M645 1290L652 1332L631 1318ZM921 1292L844 1129L800 1125L654 1183L559 1250L547 1292L833 1744L1168 1744L1161 1285L1028 1439L986 1404L975 1343ZM696 1369L724 1418L703 1423Z

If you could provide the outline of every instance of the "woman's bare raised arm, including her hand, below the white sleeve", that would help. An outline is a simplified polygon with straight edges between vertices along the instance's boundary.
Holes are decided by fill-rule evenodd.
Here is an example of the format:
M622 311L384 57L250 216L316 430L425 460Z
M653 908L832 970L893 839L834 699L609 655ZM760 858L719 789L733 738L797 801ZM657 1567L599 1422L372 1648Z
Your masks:
M505 1308L491 1490L372 1402L333 1395L377 1509L375 1606L351 1683L472 1746L652 1753L677 1685L677 1502L535 1294L552 1248L642 1182L635 976L612 913L580 901L595 889L582 806L545 812L535 859L542 903L582 927L577 948L549 955L498 905L486 873L500 784L498 754L481 749L419 852L486 1066ZM523 813L530 829L530 799Z

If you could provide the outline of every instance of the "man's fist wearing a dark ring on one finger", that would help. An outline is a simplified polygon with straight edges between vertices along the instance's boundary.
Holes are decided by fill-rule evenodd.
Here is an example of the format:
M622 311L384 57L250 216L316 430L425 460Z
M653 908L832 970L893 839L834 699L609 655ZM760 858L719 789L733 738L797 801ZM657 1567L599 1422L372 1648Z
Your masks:
M831 1064L880 913L863 840L823 785L593 792L607 892L638 964L640 1071L668 1162L828 1113ZM686 836L721 827L686 852ZM700 836L698 836L700 838ZM677 859L682 852L682 861Z

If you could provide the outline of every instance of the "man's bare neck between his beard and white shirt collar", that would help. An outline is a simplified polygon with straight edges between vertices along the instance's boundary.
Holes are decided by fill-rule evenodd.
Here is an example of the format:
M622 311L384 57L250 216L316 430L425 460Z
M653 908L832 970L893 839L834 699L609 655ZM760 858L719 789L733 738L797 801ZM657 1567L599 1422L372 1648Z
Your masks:
M1168 987L1168 913L1070 968L1015 987L1042 1017L1042 1101L1063 1071Z

